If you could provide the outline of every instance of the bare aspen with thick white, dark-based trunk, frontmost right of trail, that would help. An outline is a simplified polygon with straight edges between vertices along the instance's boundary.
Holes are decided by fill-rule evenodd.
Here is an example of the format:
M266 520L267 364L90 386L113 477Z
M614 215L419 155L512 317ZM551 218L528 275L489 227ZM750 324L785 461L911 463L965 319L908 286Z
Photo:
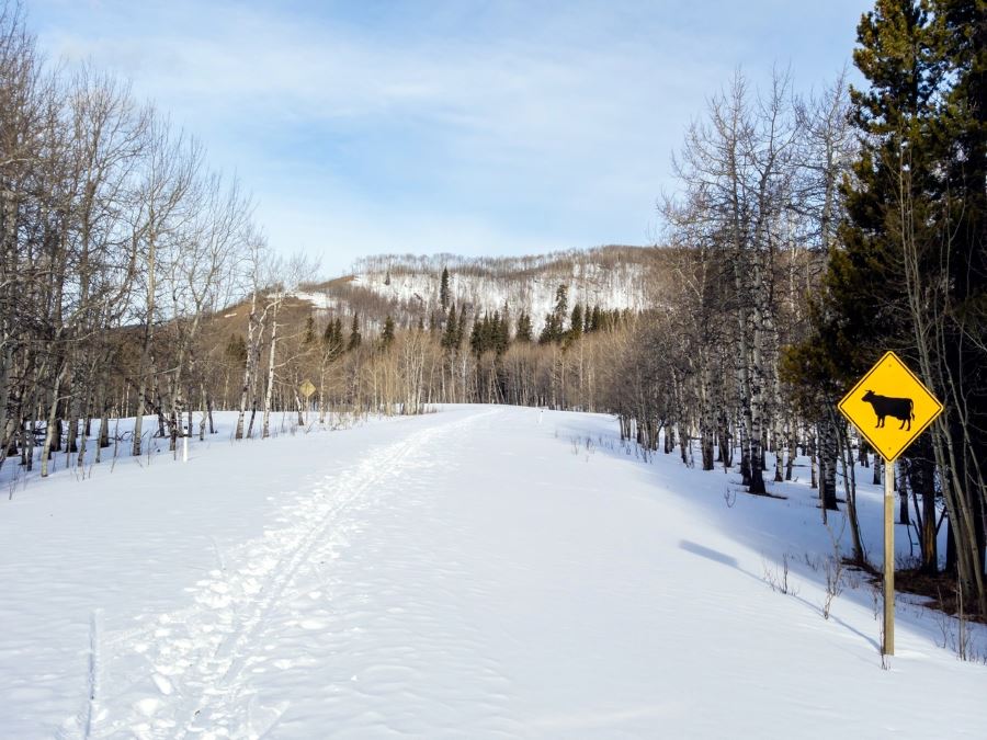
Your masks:
M694 216L684 216L681 206L665 208L682 243L713 246L733 271L724 306L736 326L731 356L740 473L755 493L765 491L763 445L770 431L778 434L774 417L780 413L774 283L798 136L789 87L787 77L775 73L765 93L751 94L742 76L735 75L729 88L711 99L707 119L689 128L676 158ZM711 426L708 418L703 425Z

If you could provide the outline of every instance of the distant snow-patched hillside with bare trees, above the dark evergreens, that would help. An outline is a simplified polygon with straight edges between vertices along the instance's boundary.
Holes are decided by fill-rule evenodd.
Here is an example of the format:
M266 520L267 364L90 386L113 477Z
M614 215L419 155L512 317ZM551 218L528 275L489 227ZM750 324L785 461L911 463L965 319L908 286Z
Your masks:
M537 331L555 306L559 285L568 287L569 307L576 303L601 309L642 310L651 306L654 288L649 277L656 251L611 247L483 260L452 254L379 255L358 262L351 278L309 287L299 297L320 308L349 312L362 296L371 295L407 321L409 317L428 317L433 310L441 310L440 284L445 267L450 273L451 303L480 314L507 306L514 318L524 310ZM359 306L355 310L360 310Z

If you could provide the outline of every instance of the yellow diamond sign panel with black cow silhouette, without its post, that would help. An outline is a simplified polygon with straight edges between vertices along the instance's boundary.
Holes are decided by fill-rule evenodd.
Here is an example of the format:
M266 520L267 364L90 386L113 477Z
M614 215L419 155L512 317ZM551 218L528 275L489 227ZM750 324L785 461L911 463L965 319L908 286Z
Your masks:
M887 352L839 409L886 460L893 460L942 412L942 403L894 352Z

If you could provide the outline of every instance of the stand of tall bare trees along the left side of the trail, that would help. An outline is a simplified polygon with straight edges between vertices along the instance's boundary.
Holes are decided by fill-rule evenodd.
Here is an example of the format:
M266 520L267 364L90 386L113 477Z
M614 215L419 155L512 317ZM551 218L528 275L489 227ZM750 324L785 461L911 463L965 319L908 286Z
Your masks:
M124 407L134 455L145 413L172 446L191 431L183 413L211 403L208 317L277 282L251 212L194 137L112 76L46 67L21 4L0 3L0 464L81 462L93 424L98 460Z

